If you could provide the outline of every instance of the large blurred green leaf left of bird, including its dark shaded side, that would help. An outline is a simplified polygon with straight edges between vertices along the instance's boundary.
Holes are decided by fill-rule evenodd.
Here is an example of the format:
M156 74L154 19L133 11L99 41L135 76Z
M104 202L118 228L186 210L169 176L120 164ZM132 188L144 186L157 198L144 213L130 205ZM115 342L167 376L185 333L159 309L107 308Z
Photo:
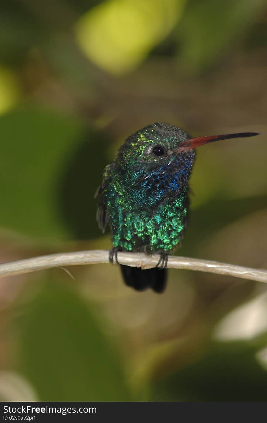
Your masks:
M13 111L0 127L0 225L51 240L98 235L105 137L73 115L40 109Z

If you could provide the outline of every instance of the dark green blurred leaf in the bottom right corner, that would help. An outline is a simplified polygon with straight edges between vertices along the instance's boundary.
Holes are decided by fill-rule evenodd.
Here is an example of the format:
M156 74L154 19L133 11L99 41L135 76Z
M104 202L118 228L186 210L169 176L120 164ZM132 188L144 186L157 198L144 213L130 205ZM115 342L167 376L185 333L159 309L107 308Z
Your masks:
M248 342L210 343L198 362L154 382L151 401L267 401L256 351Z

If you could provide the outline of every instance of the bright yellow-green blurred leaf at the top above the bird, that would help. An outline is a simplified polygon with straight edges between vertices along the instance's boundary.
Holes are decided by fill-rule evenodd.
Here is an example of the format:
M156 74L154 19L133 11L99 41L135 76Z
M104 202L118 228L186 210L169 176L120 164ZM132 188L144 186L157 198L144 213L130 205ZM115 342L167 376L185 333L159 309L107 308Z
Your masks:
M168 36L182 14L184 2L103 1L77 20L77 44L102 69L123 74L138 66Z

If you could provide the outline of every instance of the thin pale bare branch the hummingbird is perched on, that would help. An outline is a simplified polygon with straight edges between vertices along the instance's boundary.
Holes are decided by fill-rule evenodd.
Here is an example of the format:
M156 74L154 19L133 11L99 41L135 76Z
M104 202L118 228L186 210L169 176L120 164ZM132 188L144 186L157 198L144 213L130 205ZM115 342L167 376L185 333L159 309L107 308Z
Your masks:
M158 263L158 255L145 255L143 253L118 253L118 262L128 266L149 269ZM52 267L74 266L79 264L108 263L108 251L91 250L77 251L74 253L58 253L42 255L40 257L25 258L0 264L0 277L21 275L22 273L35 272L36 270L50 269ZM267 270L252 269L249 267L235 266L218 261L200 260L198 258L177 257L170 255L168 259L170 269L189 269L201 272L217 273L256 280L267 283Z

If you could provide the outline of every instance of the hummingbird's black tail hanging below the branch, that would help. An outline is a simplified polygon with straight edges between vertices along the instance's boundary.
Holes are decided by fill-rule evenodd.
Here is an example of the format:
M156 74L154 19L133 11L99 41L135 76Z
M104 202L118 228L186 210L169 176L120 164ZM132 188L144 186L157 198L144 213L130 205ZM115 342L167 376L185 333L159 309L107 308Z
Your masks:
M121 273L126 285L136 289L136 291L143 291L146 288L151 288L159 294L164 291L167 282L167 269L160 269L154 267L153 269L144 269L140 267L131 267L120 265Z

